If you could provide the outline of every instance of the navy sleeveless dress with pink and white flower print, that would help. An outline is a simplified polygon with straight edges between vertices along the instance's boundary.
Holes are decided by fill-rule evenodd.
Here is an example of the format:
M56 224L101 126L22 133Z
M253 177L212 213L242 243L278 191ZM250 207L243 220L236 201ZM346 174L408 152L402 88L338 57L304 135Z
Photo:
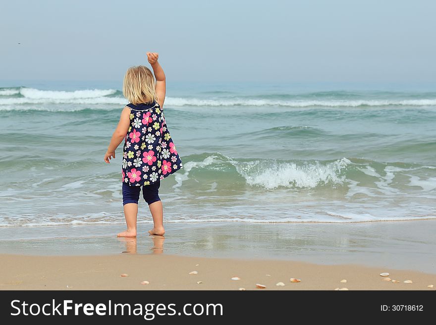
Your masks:
M150 185L183 168L159 103L127 106L130 126L124 139L122 182Z

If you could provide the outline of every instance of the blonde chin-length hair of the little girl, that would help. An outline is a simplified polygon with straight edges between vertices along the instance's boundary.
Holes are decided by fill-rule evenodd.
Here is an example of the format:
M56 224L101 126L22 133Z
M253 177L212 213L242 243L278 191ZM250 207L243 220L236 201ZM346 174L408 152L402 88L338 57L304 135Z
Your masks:
M146 66L138 65L127 69L123 82L123 95L132 104L151 104L154 100L158 101L155 87L155 77Z

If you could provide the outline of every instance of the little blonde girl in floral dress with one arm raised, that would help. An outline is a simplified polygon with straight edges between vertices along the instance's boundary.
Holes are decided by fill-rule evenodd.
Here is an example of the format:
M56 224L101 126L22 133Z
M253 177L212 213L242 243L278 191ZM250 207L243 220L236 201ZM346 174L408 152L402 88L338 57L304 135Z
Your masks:
M145 66L131 67L123 82L123 94L129 100L105 154L105 161L115 158L115 150L124 139L122 157L122 196L127 230L122 237L136 236L139 193L148 203L154 227L150 234L163 235L163 206L159 197L161 180L183 168L163 116L165 74L158 53L147 52L156 76Z

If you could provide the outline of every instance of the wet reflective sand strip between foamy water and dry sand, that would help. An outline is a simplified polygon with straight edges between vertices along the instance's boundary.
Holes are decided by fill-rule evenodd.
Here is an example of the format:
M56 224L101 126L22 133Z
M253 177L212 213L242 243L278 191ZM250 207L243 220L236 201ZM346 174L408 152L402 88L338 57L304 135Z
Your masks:
M10 229L0 231L0 254L100 256L130 251L149 255L158 245L165 255L323 265L359 261L369 267L436 274L436 220L358 224L166 224L166 233L161 238L146 233L149 227L149 224L138 224L138 236L133 239L116 237L124 228L120 225L39 227L32 229L30 234L36 237L32 239L19 239L23 234L21 230ZM69 237L62 236L65 232ZM52 237L44 238L46 236Z

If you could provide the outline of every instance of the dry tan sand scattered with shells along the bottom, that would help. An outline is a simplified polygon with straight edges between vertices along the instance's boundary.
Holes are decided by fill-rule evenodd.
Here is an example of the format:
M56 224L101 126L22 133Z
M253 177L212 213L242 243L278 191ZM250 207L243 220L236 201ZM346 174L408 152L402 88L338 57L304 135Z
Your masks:
M200 258L165 254L0 255L1 290L435 290L436 275L359 265ZM189 275L197 271L196 275ZM381 273L400 281L383 281ZM127 277L120 277L127 274ZM239 277L240 280L232 280ZM290 278L301 279L291 283ZM346 279L346 283L341 283ZM413 283L403 283L412 280ZM149 281L150 284L140 284ZM198 281L202 283L198 284ZM276 286L283 282L284 286ZM256 283L266 285L257 289Z

